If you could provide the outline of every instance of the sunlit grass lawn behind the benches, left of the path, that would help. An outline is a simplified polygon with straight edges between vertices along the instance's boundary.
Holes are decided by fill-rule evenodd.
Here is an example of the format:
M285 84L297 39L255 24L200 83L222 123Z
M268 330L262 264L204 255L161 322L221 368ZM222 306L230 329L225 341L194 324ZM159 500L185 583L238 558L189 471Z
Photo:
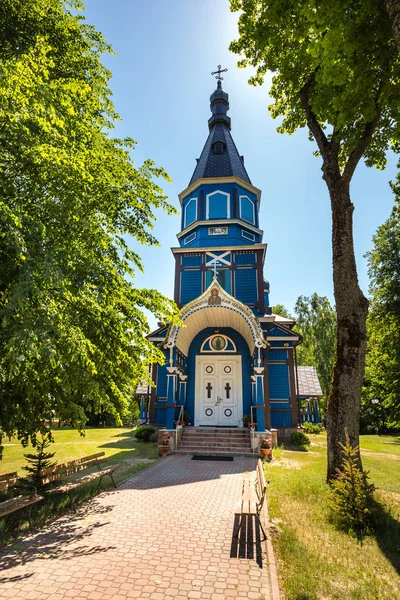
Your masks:
M121 464L115 473L117 482L123 481L157 458L157 445L139 442L134 437L133 429L89 428L84 436L76 429L55 429L53 435L55 443L50 448L51 452L56 453L53 460L64 463L96 452L105 452L105 465ZM17 471L19 475L23 475L22 467L26 463L23 455L31 451L31 448L23 448L16 439L5 440L4 446L0 474Z

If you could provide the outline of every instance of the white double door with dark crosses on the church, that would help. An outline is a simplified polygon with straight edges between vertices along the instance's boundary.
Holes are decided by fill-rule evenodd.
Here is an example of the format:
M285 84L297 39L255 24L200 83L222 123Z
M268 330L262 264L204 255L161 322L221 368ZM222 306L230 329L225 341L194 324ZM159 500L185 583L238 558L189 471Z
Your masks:
M237 427L242 416L240 356L198 356L195 425Z

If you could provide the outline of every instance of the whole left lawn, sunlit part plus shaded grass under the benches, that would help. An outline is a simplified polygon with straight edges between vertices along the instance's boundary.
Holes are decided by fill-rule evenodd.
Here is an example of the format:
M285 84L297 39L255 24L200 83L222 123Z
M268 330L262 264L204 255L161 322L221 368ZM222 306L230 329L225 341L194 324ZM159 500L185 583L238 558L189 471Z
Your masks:
M55 452L53 460L64 463L76 458L90 456L97 452L105 452L106 462L102 466L120 464L113 476L116 484L121 483L129 476L140 471L153 463L158 454L156 443L138 441L134 437L133 429L118 428L88 428L84 437L79 435L76 429L56 429L53 432L55 443L49 451ZM24 475L22 467L26 464L24 454L30 452L31 447L23 448L16 439L4 440L3 460L0 461L0 474L17 471ZM95 471L96 467L81 471L75 478ZM78 502L87 500L98 493L99 480L80 486L74 492ZM104 477L101 489L112 485L110 477ZM71 510L70 500L67 494L57 494L56 497L45 497L44 501L38 502L32 507L32 522L35 529L40 528L49 519L59 513ZM10 515L6 524L0 519L0 543L11 542L15 535L24 535L29 530L28 509L19 510Z

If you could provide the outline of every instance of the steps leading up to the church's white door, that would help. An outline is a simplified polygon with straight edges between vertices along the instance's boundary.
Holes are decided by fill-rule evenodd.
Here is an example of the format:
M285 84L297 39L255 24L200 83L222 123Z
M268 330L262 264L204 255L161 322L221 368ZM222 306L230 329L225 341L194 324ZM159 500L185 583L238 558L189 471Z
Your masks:
M185 427L178 452L251 454L250 431L238 428Z

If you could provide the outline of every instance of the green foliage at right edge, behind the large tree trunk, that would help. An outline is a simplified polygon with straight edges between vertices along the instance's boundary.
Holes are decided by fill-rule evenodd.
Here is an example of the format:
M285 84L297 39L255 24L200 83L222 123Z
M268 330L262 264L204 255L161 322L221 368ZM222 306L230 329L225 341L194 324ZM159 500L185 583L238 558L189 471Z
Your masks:
M400 427L400 183L392 187L395 206L367 254L371 310L361 405L362 427L367 431ZM379 404L372 404L374 398Z

